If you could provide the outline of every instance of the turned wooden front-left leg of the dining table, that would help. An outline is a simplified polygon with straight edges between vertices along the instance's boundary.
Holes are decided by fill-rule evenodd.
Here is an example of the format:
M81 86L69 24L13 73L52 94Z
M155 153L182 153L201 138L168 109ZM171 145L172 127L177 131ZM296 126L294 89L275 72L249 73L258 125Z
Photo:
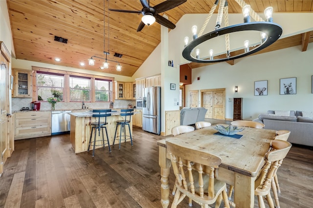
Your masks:
M171 162L166 158L166 148L159 146L158 163L161 168L161 204L163 208L167 208L170 204L169 180Z

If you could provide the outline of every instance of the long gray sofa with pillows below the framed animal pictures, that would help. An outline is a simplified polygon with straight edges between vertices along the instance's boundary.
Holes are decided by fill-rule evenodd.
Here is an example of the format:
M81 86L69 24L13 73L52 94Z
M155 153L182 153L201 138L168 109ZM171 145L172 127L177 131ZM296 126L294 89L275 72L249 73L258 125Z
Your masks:
M287 116L268 110L267 114L260 114L259 118L253 121L264 124L266 129L290 130L288 142L313 146L313 118L303 117L302 111L291 110Z

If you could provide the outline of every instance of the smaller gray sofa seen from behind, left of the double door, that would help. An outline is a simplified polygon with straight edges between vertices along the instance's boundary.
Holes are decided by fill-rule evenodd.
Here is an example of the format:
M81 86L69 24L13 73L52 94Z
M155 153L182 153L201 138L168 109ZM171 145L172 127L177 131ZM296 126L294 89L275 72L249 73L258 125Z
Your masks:
M204 121L207 109L204 107L184 107L180 110L180 125L192 125Z

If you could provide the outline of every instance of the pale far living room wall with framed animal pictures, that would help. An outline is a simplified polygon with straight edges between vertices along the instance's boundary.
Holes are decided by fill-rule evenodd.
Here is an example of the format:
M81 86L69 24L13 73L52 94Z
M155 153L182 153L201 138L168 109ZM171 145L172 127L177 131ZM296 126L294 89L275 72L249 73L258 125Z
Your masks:
M185 90L186 106L190 105L187 96L190 90L226 88L225 117L229 119L233 118L232 98L244 98L243 119L246 120L255 119L267 110L313 111L312 58L313 43L310 43L305 52L301 52L299 45L235 60L234 65L222 62L193 69L192 84L186 85ZM296 94L280 95L280 79L291 77L296 77ZM254 96L254 82L263 80L268 80L268 95ZM238 93L234 92L235 86Z

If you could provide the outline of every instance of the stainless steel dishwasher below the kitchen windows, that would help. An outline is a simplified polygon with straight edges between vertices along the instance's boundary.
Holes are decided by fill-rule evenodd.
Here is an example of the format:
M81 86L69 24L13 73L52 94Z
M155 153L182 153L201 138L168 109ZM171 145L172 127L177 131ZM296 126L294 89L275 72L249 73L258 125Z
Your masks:
M65 134L70 131L70 113L72 111L51 112L51 135Z

